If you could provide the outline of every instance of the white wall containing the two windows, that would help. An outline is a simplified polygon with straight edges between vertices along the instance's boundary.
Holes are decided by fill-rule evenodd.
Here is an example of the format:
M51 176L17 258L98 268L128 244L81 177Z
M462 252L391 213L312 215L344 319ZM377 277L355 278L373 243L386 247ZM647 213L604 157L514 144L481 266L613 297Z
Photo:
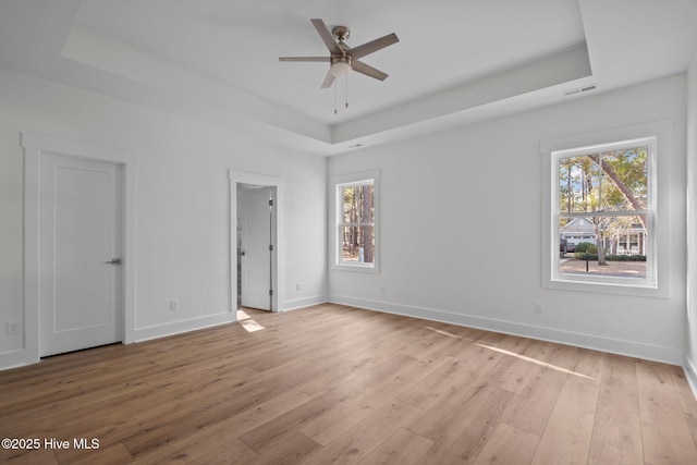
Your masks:
M674 127L670 298L542 289L540 142L663 119ZM328 179L380 170L381 248L379 274L330 269L330 298L682 364L684 127L676 76L333 157Z

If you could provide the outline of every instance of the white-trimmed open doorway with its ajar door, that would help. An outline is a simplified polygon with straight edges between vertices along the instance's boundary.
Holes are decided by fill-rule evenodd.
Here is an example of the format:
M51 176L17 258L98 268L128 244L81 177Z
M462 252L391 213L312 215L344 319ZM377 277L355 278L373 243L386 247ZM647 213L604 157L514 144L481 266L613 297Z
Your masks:
M278 311L282 289L280 179L231 170L230 191L231 311L241 307Z

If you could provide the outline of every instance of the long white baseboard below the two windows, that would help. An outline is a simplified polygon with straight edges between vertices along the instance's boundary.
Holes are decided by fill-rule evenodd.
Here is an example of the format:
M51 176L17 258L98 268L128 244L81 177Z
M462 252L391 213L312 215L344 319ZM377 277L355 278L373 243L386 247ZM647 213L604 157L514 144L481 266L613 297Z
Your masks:
M658 345L643 344L632 341L601 338L591 334L583 334L571 331L562 331L531 325L516 323L492 318L482 318L473 315L452 314L432 308L412 307L408 305L392 304L379 301L348 297L345 295L329 295L329 302L334 304L351 305L368 310L396 314L425 320L440 321L444 323L484 329L523 338L538 339L541 341L557 342L612 354L661 362L670 365L683 366L685 354L676 348Z

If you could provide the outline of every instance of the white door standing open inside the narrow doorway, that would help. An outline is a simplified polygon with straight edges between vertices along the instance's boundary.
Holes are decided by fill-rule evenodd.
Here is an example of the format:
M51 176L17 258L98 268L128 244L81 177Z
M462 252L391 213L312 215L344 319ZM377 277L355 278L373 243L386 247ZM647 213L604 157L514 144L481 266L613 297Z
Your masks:
M242 191L243 307L272 309L273 212L271 187Z

